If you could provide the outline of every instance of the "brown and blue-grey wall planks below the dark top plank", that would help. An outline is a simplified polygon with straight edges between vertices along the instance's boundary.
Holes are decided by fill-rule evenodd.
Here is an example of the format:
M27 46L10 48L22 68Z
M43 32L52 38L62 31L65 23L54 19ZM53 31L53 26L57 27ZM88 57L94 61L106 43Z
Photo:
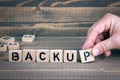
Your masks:
M37 15L35 7L0 7L0 12L0 36L86 36L106 13L120 16L119 7L41 7Z

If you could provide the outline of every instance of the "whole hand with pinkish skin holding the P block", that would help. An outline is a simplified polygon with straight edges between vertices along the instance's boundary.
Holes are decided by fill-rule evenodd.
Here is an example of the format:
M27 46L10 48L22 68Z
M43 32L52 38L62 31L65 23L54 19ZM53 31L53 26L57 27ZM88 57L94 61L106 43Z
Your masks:
M111 55L111 49L120 49L120 17L107 13L88 30L82 49L92 48L92 54Z

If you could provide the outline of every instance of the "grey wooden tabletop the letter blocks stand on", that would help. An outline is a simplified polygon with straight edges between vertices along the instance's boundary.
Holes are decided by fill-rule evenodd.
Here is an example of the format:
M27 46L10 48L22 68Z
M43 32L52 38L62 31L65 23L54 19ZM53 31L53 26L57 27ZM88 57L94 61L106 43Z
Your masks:
M85 37L37 37L33 43L22 43L22 49L81 49ZM96 57L95 62L77 63L12 63L8 53L0 54L0 79L6 80L118 80L120 79L120 54L106 58Z

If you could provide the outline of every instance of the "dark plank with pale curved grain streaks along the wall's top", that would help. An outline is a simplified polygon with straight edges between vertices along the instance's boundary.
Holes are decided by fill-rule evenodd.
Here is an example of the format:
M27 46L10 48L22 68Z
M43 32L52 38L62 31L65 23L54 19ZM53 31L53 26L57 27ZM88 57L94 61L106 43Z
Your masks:
M9 7L120 7L119 0L0 0Z

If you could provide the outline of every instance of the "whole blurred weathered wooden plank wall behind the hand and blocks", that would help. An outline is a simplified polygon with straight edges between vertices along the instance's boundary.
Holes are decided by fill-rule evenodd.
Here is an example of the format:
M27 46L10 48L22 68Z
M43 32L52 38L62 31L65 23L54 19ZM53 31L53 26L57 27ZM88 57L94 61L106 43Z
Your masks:
M106 13L120 16L120 0L0 0L0 36L86 36Z

